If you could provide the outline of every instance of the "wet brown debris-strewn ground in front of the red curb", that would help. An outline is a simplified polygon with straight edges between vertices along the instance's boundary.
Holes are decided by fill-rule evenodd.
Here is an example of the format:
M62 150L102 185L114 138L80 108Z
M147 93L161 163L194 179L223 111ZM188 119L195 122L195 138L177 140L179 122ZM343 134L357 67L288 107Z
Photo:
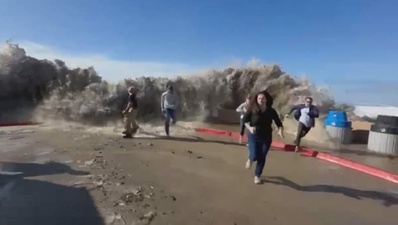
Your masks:
M255 185L245 146L161 129L1 127L0 224L397 224L396 184L270 151Z

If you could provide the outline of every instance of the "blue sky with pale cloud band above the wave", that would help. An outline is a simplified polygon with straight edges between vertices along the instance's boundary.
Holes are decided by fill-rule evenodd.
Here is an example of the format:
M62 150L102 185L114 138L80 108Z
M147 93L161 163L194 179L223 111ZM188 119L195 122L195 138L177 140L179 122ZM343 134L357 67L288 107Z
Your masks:
M0 40L12 38L33 56L102 65L106 79L127 73L111 77L115 66L169 75L257 58L330 85L338 101L398 105L396 0L0 0L0 5Z

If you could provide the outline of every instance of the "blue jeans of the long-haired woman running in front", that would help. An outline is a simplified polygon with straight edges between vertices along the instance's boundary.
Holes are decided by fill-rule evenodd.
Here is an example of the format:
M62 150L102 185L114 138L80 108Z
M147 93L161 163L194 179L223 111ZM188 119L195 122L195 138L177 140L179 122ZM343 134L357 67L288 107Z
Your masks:
M247 141L249 143L249 159L254 162L257 161L255 175L260 177L263 173L265 166L265 159L268 154L268 150L272 143L272 133L259 138L258 136L248 132Z

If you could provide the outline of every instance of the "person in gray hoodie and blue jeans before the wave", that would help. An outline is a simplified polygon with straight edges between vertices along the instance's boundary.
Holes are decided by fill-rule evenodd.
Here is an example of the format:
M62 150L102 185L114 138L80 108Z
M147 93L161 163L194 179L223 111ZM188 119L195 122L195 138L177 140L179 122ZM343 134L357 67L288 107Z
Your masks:
M162 94L160 106L162 113L165 115L165 131L166 135L170 136L169 127L170 119L172 119L173 124L176 123L176 110L178 105L178 97L174 92L172 85L167 86L167 91Z

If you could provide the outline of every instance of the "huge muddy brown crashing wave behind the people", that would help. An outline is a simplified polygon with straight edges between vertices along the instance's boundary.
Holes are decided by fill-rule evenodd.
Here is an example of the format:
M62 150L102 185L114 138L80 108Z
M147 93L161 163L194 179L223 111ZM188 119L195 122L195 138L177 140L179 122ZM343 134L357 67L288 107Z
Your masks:
M6 112L21 116L18 113L23 109L39 118L99 124L121 116L127 88L133 86L139 90L138 116L152 119L161 115L160 95L167 84L173 84L180 97L180 118L205 120L219 107L235 109L247 94L265 89L281 113L306 96L314 99L321 112L334 105L328 89L317 88L306 78L294 79L278 65L252 64L174 79L138 77L113 84L102 80L93 67L71 69L59 59L38 60L18 45L6 43L0 50L0 109L2 117Z

